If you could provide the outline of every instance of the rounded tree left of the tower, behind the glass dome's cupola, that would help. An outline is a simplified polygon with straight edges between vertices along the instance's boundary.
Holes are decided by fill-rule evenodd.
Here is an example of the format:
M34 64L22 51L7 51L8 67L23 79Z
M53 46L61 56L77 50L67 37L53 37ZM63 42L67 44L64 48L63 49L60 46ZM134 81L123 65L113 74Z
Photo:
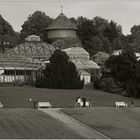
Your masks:
M29 35L38 35L42 40L46 41L47 34L46 28L52 19L44 12L36 11L32 15L29 15L28 19L22 25L21 38L24 40Z

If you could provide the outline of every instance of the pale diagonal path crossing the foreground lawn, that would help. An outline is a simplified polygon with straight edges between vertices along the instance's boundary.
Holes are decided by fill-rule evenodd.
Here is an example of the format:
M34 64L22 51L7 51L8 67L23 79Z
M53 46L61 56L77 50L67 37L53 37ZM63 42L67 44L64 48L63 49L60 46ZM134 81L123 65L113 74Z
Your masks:
M60 109L39 109L40 111L47 113L54 119L63 122L67 127L77 132L83 138L88 139L109 139L109 137L102 133L91 129L87 125L79 122L78 120L64 114Z

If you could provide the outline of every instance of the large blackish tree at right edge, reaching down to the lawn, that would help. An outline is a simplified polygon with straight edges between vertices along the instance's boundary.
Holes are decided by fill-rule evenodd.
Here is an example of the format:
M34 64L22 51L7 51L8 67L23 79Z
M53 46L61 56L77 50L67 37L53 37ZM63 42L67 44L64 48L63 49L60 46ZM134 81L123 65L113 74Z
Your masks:
M115 82L121 83L121 87L126 91L125 96L140 96L139 67L137 59L132 49L127 49L122 54L111 56L105 63L108 72L103 77L112 77ZM138 80L138 81L137 81Z

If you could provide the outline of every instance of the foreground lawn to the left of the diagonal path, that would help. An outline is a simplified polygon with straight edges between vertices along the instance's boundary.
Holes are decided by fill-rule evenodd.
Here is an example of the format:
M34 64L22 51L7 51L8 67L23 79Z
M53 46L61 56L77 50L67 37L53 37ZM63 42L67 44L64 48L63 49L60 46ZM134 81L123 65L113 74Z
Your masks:
M61 122L35 109L0 109L0 139L81 138Z

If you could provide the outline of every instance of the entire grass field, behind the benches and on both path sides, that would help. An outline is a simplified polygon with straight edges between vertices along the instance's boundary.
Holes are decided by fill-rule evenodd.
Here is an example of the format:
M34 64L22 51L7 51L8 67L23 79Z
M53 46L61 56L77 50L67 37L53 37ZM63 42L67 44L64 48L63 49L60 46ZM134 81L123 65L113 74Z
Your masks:
M73 108L75 97L92 99L93 108ZM37 101L49 101L64 112L111 138L140 138L140 108L115 108L115 101L130 98L97 91L38 89L33 87L0 87L0 138L80 138L64 124L46 114L30 109ZM140 100L133 99L140 107ZM18 108L18 109L17 109ZM22 108L22 109L20 109Z

